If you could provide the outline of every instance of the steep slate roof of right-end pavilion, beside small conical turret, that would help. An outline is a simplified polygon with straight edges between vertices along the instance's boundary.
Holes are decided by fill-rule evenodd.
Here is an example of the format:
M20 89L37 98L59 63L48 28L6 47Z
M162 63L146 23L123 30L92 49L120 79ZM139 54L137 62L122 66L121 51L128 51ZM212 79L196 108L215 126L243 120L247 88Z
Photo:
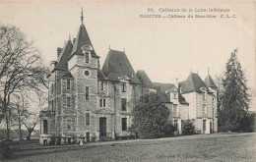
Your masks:
M198 76L198 74L195 74L195 73L190 73L187 80L179 82L179 85L182 85L181 94L194 92L194 91L201 92L202 90L200 88L206 87L205 82L202 81L202 79Z

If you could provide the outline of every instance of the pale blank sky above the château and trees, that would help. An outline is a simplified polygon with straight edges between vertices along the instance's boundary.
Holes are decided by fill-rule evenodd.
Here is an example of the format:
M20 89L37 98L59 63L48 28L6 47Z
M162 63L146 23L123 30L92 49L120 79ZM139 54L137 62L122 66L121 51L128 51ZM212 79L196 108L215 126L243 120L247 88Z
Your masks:
M152 81L173 83L174 78L184 81L190 72L198 73L204 80L208 69L213 78L222 74L230 53L238 48L237 56L248 86L256 90L253 1L6 1L0 2L0 24L20 27L35 41L45 64L49 65L56 60L57 47L64 46L69 34L72 39L76 37L81 25L81 7L101 66L110 46L125 50L134 70L145 70ZM165 8L179 9L179 12L160 12ZM209 8L229 12L200 12ZM186 18L140 18L152 14ZM194 18L189 19L188 15ZM217 18L195 18L196 15ZM252 107L255 110L256 106Z

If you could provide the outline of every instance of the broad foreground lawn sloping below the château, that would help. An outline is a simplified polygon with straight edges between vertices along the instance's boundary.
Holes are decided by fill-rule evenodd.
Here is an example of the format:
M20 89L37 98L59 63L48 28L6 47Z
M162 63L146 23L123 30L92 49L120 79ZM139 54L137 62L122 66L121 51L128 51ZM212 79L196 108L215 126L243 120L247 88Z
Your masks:
M255 161L255 134L192 135L77 146L8 161Z

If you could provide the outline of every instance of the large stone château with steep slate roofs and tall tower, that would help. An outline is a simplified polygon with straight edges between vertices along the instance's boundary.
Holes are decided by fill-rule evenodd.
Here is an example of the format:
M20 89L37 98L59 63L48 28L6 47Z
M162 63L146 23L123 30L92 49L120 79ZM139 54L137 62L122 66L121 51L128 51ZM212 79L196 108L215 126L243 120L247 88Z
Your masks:
M48 83L48 110L40 112L41 144L126 138L134 101L150 92L159 93L170 109L175 134L182 134L181 121L188 119L202 134L217 131L215 87L184 91L190 89L184 82L153 83L144 71L134 72L125 52L112 49L100 69L83 23L73 41L57 48Z

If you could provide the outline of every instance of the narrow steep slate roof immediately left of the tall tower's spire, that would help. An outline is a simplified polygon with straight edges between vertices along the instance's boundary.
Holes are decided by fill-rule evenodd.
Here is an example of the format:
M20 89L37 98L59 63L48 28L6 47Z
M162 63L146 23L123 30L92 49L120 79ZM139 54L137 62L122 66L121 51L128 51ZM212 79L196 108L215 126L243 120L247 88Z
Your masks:
M55 69L57 70L68 70L68 63L67 60L70 57L70 53L72 50L72 43L70 40L64 45L63 49L61 50L57 62L58 64L56 65Z

